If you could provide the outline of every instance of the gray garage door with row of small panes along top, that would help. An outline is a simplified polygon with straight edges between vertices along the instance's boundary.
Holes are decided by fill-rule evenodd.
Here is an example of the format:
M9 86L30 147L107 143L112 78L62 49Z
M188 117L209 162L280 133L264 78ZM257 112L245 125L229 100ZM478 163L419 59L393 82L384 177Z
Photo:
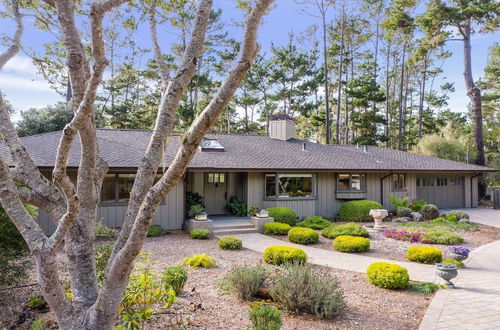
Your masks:
M439 208L465 207L463 177L417 177L417 197Z

